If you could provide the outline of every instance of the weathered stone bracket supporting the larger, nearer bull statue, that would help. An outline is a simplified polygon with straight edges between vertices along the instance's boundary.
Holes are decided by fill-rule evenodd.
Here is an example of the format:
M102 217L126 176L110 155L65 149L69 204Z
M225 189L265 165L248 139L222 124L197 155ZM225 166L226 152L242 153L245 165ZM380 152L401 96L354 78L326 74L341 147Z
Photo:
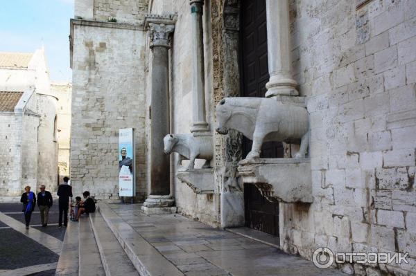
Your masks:
M245 159L239 163L243 183L252 183L268 201L312 203L309 158Z

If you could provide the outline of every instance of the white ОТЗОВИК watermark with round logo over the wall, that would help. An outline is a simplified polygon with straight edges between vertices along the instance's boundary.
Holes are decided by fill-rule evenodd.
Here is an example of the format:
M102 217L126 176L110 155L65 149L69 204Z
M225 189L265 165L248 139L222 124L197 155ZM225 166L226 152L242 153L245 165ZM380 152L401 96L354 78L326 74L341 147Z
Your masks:
M408 264L409 253L392 252L333 252L326 247L320 247L312 255L313 264L318 268L329 268L334 262L336 264Z

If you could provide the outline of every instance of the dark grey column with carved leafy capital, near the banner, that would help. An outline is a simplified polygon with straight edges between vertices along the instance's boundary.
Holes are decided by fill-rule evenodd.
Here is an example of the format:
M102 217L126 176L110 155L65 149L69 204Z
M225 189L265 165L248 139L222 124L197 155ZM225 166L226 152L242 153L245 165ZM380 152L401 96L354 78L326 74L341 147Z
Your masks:
M152 19L155 19L153 16ZM150 20L148 20L150 21ZM171 196L170 161L164 154L163 138L170 132L169 119L169 59L171 48L169 36L173 24L148 22L150 48L153 51L151 71L150 109L150 193L144 202L143 210L148 214L169 211L175 202Z

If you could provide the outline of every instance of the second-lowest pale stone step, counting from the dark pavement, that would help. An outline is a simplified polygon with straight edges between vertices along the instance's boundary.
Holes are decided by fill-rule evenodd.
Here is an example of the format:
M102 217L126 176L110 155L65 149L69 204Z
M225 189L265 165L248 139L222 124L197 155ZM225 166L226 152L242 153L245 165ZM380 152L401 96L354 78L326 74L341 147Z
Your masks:
M89 217L80 217L78 233L79 276L103 276L105 271Z

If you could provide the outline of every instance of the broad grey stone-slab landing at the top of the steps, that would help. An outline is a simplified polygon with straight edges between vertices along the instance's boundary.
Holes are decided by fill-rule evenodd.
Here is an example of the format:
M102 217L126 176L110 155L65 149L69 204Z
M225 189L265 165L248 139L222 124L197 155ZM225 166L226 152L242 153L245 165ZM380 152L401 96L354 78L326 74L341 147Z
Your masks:
M159 275L344 275L340 270L321 270L311 261L180 214L147 216L138 204L98 205L123 248L130 248L129 257L136 252L134 258L145 270L148 266L164 266ZM139 244L137 248L135 243ZM143 252L143 248L151 253ZM164 258L158 258L158 254ZM159 263L165 258L168 262ZM157 264L152 264L152 259Z

